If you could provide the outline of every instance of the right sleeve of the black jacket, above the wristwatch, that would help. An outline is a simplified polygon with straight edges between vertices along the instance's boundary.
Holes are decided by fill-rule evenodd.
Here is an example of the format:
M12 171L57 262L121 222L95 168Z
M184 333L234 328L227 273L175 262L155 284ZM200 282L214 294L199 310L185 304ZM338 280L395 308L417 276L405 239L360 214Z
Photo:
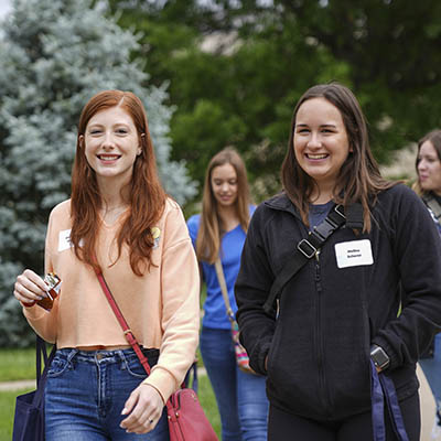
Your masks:
M398 193L394 192L394 193ZM420 198L409 189L392 195L392 247L401 278L402 311L373 343L390 358L390 369L416 363L441 331L441 241Z

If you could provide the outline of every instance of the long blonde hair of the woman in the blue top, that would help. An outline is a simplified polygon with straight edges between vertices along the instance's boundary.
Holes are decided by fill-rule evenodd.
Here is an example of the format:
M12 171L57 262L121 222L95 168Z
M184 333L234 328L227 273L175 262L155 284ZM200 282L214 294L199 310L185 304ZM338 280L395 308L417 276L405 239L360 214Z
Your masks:
M205 173L204 192L202 196L201 226L196 239L196 255L198 260L214 263L220 248L220 219L217 202L212 189L212 173L216 166L232 164L237 175L237 198L235 208L244 232L249 224L249 187L247 170L239 153L232 148L226 148L215 154L208 163Z

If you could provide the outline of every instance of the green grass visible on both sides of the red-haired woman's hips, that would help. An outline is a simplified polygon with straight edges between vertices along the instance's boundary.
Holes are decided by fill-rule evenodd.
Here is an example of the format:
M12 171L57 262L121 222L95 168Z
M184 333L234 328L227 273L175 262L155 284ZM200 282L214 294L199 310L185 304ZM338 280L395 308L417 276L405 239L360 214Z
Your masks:
M202 357L198 354L198 365ZM0 381L35 378L35 349L0 349ZM12 439L15 397L25 390L0 391L0 441ZM220 418L212 385L206 375L198 376L198 397L204 411L220 439Z

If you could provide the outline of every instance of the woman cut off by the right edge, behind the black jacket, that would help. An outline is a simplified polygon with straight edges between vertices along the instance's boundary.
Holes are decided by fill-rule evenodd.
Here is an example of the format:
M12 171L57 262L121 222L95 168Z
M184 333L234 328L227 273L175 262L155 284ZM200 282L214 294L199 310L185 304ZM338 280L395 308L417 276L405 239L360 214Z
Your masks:
M427 205L441 235L441 130L427 133L418 142L416 165L418 181L413 190ZM432 198L438 202L437 213L430 208L430 200ZM433 357L421 358L420 366L437 405L432 439L441 440L441 333L438 333L434 337Z

